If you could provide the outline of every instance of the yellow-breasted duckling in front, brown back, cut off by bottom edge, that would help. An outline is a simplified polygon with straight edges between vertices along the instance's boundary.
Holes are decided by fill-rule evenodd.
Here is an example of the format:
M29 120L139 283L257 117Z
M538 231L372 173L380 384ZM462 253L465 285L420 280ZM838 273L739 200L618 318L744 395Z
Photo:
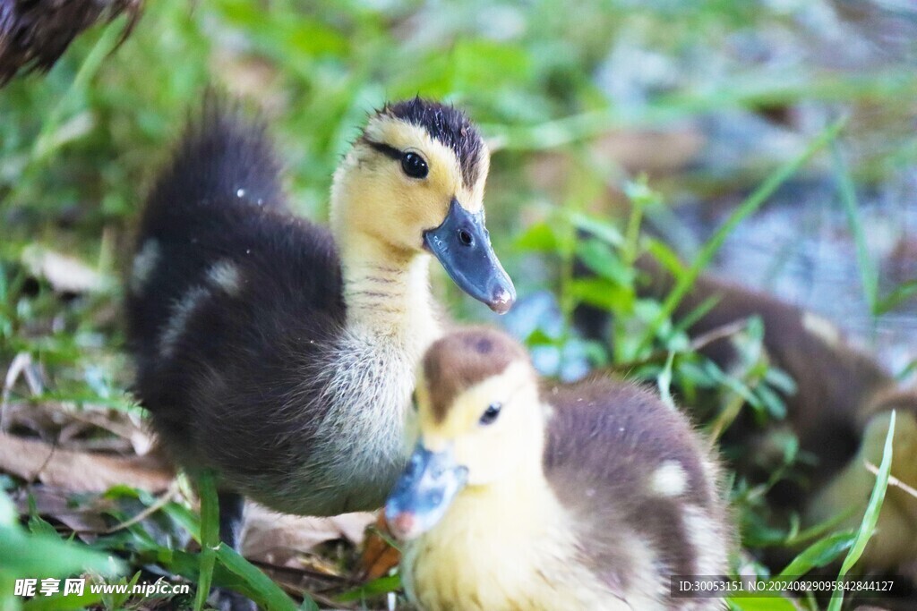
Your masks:
M523 347L447 334L418 367L417 442L385 506L422 608L713 609L673 575L724 574L719 467L679 411L608 378L539 387Z

